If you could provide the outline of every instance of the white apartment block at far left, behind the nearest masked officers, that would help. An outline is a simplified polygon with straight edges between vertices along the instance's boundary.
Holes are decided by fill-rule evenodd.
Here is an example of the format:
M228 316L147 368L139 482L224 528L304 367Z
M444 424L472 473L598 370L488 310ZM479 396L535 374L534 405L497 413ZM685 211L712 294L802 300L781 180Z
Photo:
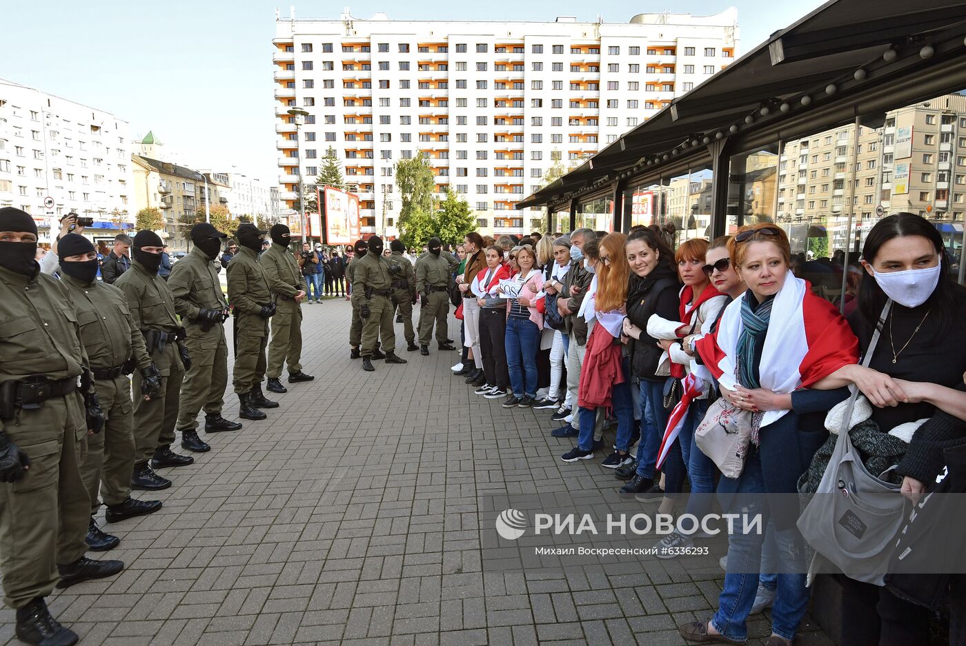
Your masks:
M42 242L71 211L104 235L133 221L129 150L114 114L0 79L0 207L30 212Z

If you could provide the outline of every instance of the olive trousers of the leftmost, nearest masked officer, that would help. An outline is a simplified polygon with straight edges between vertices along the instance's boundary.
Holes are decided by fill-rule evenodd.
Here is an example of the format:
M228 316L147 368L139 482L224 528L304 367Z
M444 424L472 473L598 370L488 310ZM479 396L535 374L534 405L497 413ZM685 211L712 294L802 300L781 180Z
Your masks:
M10 440L30 458L21 480L0 483L0 572L4 603L23 607L46 597L59 580L57 565L87 551L91 501L80 477L87 424L78 393L21 410L5 424Z

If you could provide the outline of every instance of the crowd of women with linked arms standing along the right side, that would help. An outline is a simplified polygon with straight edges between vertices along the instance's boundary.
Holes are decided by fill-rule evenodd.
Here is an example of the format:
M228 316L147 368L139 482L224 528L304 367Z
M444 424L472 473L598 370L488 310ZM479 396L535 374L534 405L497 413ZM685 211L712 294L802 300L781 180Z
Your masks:
M897 213L872 228L849 275L847 320L796 275L777 225L676 250L668 242L658 227L469 234L457 249L464 356L453 372L502 407L552 412L563 422L552 435L576 438L566 463L593 460L615 425L601 466L625 481L619 492L662 513L700 518L715 500L726 506L727 494L798 492L816 453L835 441L826 417L849 387L867 399L879 434L918 427L889 469L901 492L916 498L936 481L943 449L966 442L966 290L929 222ZM724 473L696 440L723 410L747 411L751 429L742 462ZM771 606L769 646L793 642L810 599L798 510L760 511L767 532L729 536L719 608L681 626L687 640L744 643L749 615ZM661 545L696 538L671 534ZM842 643L929 643L927 609L858 578L838 575ZM964 644L956 587L950 635Z

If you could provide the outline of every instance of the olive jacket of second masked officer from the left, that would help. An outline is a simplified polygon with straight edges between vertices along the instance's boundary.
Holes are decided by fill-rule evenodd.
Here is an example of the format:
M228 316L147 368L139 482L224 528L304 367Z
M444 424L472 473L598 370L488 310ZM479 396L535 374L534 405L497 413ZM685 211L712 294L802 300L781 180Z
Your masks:
M80 324L80 340L92 370L117 368L130 357L139 369L151 365L141 330L134 326L128 298L116 285L84 283L67 274L61 282L71 291Z

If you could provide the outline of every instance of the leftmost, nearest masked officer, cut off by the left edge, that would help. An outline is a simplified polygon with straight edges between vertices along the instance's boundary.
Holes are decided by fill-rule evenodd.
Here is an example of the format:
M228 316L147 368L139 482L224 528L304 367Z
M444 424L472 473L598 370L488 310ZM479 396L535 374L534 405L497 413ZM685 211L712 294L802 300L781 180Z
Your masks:
M74 644L43 598L124 564L84 556L91 501L79 455L103 417L71 294L36 254L30 213L0 209L0 572L21 641Z

